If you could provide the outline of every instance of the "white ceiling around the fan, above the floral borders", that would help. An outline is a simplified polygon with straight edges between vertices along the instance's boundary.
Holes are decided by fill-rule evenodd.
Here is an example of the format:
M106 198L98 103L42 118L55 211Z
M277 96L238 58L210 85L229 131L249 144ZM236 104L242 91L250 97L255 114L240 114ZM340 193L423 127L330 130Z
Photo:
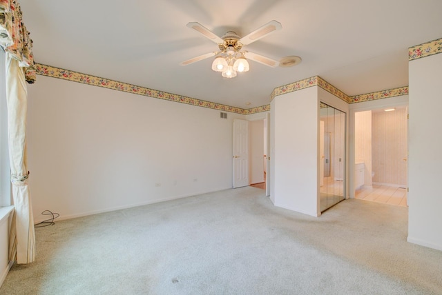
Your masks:
M442 37L441 0L19 3L37 63L239 108L267 105L274 88L316 75L350 96L406 86L408 48ZM186 27L191 21L242 37L273 19L282 30L247 50L276 60L297 55L299 65L251 61L250 71L233 79L211 70L213 58L179 65L218 50Z

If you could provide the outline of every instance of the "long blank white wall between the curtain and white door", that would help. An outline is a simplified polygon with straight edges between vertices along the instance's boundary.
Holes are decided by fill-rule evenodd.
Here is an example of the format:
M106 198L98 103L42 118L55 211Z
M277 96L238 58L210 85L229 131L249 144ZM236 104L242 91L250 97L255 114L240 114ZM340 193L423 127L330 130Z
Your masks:
M233 119L218 110L38 77L28 87L35 220L232 187Z

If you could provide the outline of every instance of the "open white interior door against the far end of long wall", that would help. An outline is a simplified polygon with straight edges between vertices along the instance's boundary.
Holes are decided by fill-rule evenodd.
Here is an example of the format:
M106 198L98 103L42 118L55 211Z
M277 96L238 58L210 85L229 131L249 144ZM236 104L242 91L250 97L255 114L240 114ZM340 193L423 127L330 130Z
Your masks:
M233 120L233 188L249 185L249 121Z

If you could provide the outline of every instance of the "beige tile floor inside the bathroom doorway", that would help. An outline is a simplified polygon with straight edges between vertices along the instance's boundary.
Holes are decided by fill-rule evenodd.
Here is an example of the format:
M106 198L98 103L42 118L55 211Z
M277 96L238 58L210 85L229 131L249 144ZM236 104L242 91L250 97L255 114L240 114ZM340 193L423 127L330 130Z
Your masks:
M407 207L407 189L403 187L385 185L373 185L371 188L361 187L356 190L355 198Z

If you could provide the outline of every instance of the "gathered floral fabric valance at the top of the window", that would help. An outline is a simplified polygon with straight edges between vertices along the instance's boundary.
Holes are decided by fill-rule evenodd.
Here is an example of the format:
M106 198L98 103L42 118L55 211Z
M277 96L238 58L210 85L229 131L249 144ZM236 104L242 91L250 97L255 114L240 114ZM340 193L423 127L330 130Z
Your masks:
M35 82L32 40L22 21L20 4L16 0L0 0L0 45L19 61L28 83Z

